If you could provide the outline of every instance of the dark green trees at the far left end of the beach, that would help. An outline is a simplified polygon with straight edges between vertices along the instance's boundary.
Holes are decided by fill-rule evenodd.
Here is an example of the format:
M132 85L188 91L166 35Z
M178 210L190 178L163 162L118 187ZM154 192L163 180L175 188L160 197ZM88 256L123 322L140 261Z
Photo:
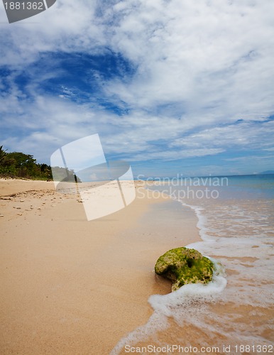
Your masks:
M20 152L7 153L3 146L0 146L0 176L2 178L53 180L50 165L36 163L33 155Z

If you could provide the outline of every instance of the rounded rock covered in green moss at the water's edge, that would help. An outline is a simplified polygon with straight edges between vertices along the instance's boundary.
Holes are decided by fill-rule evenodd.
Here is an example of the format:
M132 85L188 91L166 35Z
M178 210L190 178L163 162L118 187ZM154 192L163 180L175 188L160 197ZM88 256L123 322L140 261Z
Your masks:
M155 263L155 273L173 281L172 291L187 283L209 283L214 263L195 249L171 249Z

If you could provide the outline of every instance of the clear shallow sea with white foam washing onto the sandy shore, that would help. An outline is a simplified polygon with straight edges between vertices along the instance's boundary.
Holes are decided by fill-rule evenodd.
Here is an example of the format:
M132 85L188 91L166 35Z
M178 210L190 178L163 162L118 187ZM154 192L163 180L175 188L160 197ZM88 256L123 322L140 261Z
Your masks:
M165 180L149 189L168 193L197 214L202 241L187 247L212 258L212 282L151 295L153 315L112 354L274 352L274 175L201 179Z

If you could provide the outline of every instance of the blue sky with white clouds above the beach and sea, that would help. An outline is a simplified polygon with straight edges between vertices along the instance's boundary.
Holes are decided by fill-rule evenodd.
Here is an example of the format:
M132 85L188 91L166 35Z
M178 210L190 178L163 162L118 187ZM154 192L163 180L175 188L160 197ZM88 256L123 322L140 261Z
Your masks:
M49 163L99 133L133 175L274 170L274 2L0 4L0 143Z

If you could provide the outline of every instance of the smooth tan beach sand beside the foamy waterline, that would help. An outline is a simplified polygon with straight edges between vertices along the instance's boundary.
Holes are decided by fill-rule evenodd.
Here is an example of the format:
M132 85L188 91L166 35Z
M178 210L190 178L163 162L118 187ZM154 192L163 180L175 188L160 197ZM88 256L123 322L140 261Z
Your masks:
M170 292L155 261L199 236L190 209L144 191L88 222L53 182L0 180L1 354L109 354L147 322Z

